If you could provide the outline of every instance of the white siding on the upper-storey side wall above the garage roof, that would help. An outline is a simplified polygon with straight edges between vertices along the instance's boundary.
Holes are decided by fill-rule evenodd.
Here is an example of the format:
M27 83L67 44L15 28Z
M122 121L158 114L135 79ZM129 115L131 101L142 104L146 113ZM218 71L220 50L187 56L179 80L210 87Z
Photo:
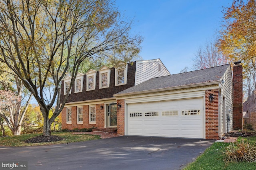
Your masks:
M158 70L158 64L161 66L160 70ZM168 75L170 75L170 73L160 59L137 61L134 85L136 86L150 78Z

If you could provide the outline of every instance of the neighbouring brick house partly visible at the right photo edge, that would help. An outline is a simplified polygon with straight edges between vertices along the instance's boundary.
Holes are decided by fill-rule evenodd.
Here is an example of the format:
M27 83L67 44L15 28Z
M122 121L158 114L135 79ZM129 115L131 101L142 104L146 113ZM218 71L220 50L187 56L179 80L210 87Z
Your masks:
M256 90L243 104L243 124L252 124L256 129Z

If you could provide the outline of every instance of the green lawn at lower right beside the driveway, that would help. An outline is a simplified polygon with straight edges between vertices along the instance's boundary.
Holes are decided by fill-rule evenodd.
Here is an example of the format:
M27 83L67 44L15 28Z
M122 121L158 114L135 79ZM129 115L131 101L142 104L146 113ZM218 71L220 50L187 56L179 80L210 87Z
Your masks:
M256 137L238 138L238 142L241 139L246 139L249 142L255 143ZM228 147L228 143L214 143L212 146L205 150L195 162L192 162L184 168L184 170L255 170L256 162L228 162L225 163L224 151L225 147Z

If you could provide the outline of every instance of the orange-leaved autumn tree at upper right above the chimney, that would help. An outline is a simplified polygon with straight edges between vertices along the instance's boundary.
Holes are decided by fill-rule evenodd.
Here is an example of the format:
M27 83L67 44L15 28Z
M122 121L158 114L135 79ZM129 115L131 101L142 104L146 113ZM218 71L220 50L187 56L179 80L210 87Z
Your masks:
M250 96L256 87L256 2L234 0L223 14L219 49L229 61L242 61Z

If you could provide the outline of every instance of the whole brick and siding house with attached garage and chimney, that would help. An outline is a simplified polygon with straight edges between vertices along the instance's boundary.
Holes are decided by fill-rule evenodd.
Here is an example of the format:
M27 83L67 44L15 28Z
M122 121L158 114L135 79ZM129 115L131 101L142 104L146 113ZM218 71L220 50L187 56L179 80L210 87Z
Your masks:
M230 64L170 75L160 60L151 70L154 62L128 64L127 81L122 86L116 86L118 67L102 68L110 69L111 74L109 87L104 90L99 86L102 69L79 75L86 87L80 94L72 88L62 111L62 128L115 127L119 135L200 139L218 139L233 127L242 128L242 102L237 100L242 94L240 62L233 67L234 81ZM162 68L166 75L149 78ZM145 75L139 76L142 72ZM94 90L88 89L94 85L90 85L92 75L96 77ZM68 78L62 91L66 82Z

